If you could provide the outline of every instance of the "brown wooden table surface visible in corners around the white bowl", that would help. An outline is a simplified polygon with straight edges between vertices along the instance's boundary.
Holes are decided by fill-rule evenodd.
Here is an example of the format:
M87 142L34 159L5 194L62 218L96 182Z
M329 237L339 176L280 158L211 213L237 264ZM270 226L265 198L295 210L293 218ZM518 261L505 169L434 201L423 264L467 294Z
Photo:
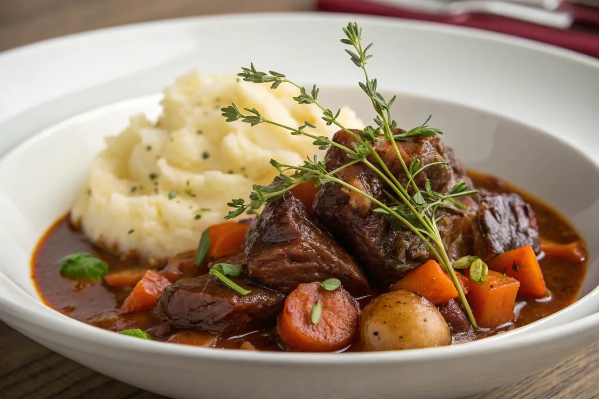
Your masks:
M0 51L106 26L202 14L308 11L310 0L0 0ZM599 397L599 343L470 399ZM0 398L161 398L68 360L0 322Z

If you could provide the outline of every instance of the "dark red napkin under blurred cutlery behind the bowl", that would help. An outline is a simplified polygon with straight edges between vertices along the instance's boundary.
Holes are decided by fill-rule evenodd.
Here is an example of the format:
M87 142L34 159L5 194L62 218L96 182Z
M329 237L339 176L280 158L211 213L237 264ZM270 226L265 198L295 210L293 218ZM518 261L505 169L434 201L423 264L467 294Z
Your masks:
M470 26L470 28L507 33L509 35L558 45L559 47L569 48L570 50L599 58L599 29L597 29L597 34L575 29L557 29L490 14L438 16L418 13L406 10L405 8L368 0L317 0L317 7L322 11L334 11L337 13L372 14Z

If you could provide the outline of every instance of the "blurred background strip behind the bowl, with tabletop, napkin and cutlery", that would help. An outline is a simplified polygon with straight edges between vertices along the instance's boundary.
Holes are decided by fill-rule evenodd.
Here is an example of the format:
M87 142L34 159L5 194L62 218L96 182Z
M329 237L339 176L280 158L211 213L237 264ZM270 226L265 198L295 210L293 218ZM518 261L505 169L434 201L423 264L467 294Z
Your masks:
M0 51L108 26L265 11L428 20L508 33L599 57L599 0L0 0Z

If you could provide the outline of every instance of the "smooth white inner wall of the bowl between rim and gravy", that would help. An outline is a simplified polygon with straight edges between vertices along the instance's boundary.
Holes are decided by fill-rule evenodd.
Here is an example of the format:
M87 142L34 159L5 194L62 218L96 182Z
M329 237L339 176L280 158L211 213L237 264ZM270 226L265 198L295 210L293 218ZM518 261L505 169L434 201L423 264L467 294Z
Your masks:
M351 106L364 120L373 114L359 89L323 87L324 103ZM42 234L68 211L84 187L92 158L103 138L116 135L129 117L158 115L160 95L115 103L70 118L44 130L0 162L0 272L39 299L31 281L29 261ZM444 141L471 169L507 179L561 212L587 243L599 239L599 170L567 143L516 121L467 106L416 96L399 96L394 115L402 127L431 124L444 130ZM589 268L580 296L599 285L597 251L589 246ZM585 301L595 300L588 296ZM571 307L572 308L572 307ZM561 312L544 321L556 325L599 309ZM567 313L567 314L566 314Z

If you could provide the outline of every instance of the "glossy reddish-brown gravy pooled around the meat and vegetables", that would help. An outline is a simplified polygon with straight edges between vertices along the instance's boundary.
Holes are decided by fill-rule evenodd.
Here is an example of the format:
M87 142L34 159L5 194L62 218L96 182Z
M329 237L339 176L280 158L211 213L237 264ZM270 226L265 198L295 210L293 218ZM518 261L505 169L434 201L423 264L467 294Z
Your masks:
M536 212L541 239L556 243L571 243L581 238L555 211L543 205L539 200L516 190L507 182L470 172L477 188L484 188L496 193L517 192L527 200ZM119 315L118 309L130 290L115 290L105 282L77 282L63 278L59 273L59 261L74 252L89 252L105 260L110 265L110 272L119 270L158 269L159 265L149 264L145 260L121 260L104 249L92 245L83 233L75 230L68 223L68 216L61 218L53 225L35 251L32 259L32 274L38 291L46 304L69 317L88 324L109 330L125 330L141 328L148 330L153 339L166 339L177 330L171 328L169 334L161 333L165 328L151 311ZM586 271L586 263L573 263L565 260L543 258L540 261L547 289L551 293L550 300L518 301L516 303L516 327L530 324L540 318L557 312L573 303L579 293ZM365 306L370 299L361 300ZM192 342L184 332L183 342ZM483 334L486 336L488 334ZM238 348L242 342L250 342L258 349L280 350L276 337L271 331L256 331L243 338L233 337L221 339L216 346L220 348ZM351 348L359 350L356 342Z

